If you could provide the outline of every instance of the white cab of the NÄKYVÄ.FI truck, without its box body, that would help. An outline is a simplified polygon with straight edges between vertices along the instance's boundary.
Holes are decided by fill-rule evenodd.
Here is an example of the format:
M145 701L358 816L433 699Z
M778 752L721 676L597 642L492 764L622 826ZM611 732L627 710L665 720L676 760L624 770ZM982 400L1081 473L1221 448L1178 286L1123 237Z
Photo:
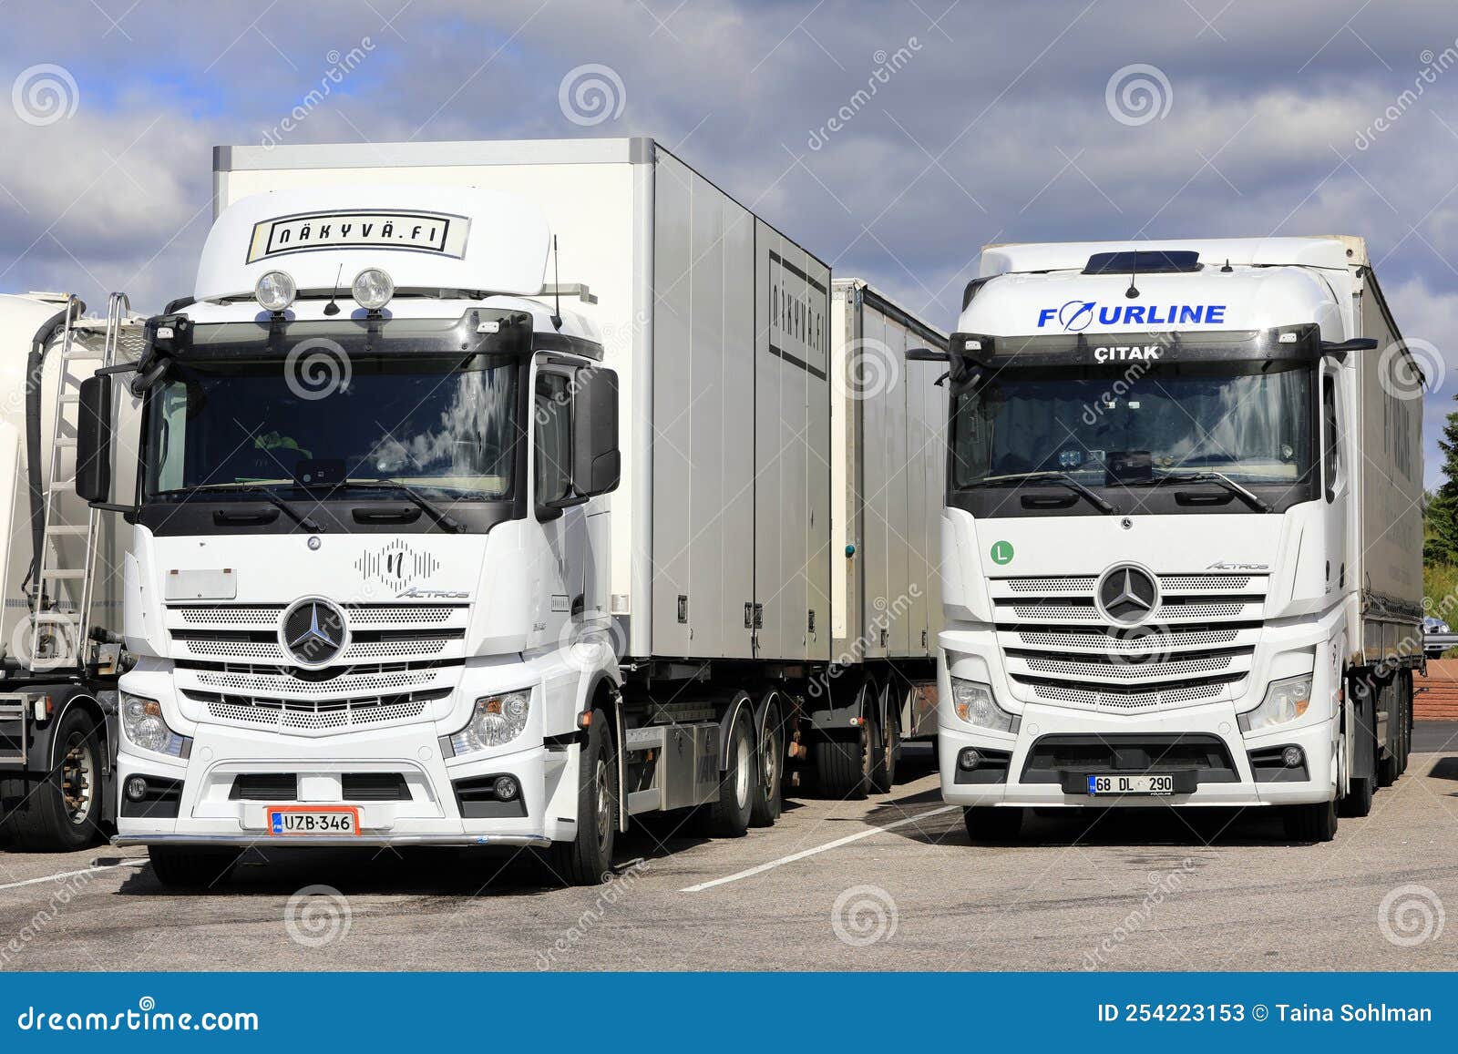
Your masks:
M474 188L248 197L83 388L77 490L130 525L115 841L165 882L262 838L605 869L615 806L579 770L620 678L617 382L590 296L539 296L550 246Z

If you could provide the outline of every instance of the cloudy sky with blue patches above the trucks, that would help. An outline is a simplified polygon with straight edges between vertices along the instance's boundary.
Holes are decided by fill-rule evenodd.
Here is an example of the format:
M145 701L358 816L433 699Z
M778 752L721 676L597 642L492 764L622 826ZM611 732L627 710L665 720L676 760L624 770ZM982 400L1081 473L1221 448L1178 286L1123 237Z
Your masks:
M102 305L125 289L141 309L190 292L214 143L650 134L943 327L987 242L1353 233L1404 334L1449 357L1449 0L10 0L4 13L6 290ZM1458 362L1438 372L1430 484Z

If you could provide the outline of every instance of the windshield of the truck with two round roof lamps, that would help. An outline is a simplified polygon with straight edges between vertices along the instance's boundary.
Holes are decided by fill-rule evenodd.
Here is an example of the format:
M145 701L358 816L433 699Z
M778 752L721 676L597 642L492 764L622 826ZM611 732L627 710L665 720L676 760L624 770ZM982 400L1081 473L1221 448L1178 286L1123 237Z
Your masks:
M174 364L149 392L146 496L344 483L510 499L521 364L502 354ZM257 491L252 497L257 497Z

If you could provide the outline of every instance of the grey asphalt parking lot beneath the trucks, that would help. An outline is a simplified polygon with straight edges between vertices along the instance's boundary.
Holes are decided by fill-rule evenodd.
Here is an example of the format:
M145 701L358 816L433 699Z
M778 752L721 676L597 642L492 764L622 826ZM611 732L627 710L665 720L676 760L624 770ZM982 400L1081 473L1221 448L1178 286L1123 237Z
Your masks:
M894 795L742 840L659 818L601 889L503 850L268 847L191 895L140 850L0 851L0 969L1458 968L1458 723L1420 725L1327 846L1255 809L1042 813L970 846L911 749Z

